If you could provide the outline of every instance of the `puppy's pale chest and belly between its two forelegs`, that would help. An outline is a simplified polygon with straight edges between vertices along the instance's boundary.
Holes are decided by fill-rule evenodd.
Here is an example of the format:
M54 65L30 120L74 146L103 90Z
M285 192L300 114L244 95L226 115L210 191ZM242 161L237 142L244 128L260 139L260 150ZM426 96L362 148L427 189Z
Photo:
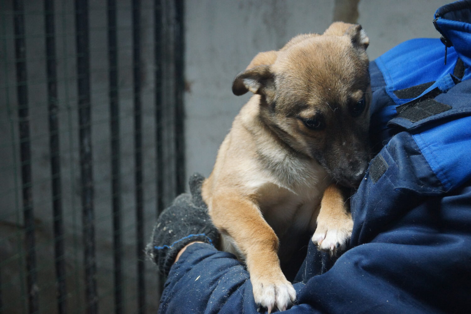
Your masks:
M290 260L300 236L316 229L319 204L330 178L314 160L281 153L271 157L252 183L258 185L260 212L280 240L278 255L283 263Z

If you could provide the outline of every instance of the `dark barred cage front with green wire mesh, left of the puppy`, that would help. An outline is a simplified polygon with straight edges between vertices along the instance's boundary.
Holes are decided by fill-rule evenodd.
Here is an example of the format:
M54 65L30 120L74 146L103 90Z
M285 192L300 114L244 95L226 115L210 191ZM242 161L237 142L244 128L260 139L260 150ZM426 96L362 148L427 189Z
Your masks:
M0 0L0 313L156 313L183 1Z

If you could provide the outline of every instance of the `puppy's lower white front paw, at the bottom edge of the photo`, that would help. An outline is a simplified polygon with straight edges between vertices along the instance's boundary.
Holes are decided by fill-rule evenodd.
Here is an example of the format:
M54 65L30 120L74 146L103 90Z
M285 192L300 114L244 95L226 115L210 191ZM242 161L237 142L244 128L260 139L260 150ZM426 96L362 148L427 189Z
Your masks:
M284 311L296 300L296 291L281 270L278 276L272 278L251 275L251 282L255 303L266 307L268 313L275 308Z

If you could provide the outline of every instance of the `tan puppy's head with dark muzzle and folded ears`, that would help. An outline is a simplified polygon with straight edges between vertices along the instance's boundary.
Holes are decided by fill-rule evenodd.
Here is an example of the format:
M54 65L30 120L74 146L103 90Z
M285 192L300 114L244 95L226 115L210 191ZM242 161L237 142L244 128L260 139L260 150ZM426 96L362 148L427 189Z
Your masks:
M368 44L360 25L336 22L258 54L232 86L260 95L260 119L346 186L359 184L369 161Z

